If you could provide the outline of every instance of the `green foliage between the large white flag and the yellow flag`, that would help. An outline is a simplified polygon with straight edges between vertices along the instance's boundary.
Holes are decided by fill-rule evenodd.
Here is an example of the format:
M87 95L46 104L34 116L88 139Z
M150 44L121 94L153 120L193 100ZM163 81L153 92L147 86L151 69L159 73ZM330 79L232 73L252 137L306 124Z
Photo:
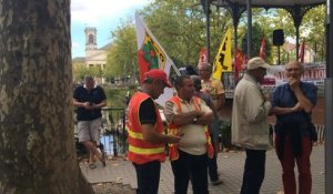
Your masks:
M205 14L196 0L155 0L140 12L144 21L178 67L196 65L205 47ZM231 25L226 10L211 7L211 60Z

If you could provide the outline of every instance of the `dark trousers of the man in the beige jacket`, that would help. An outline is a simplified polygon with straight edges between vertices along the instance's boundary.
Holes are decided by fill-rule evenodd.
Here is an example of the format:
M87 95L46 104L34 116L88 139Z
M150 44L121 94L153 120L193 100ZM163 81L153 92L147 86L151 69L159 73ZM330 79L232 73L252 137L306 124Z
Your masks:
M259 194L265 176L265 150L246 149L246 160L241 194Z

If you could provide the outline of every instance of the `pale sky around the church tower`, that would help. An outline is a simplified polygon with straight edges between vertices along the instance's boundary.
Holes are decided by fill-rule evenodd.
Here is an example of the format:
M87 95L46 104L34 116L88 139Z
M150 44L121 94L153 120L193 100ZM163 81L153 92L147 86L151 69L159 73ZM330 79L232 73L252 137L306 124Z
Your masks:
M72 58L84 57L84 28L97 28L98 48L111 41L121 19L134 18L135 10L151 0L71 0Z

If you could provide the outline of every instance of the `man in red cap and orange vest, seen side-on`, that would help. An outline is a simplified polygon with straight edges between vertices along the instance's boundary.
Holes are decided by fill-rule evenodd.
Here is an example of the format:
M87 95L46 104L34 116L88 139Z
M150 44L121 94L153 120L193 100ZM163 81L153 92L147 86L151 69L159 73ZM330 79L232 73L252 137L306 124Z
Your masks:
M129 103L128 157L132 161L138 181L138 194L158 194L161 162L165 161L165 143L178 143L180 136L165 135L162 119L154 101L171 88L167 74L153 69L144 74L141 91Z

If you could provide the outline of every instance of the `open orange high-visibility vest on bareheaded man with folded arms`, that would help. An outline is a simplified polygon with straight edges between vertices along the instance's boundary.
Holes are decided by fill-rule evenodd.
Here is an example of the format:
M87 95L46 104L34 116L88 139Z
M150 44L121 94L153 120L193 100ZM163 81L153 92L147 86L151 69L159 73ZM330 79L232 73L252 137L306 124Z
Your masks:
M200 110L199 103L200 103L201 99L193 96L193 100L194 100L195 110ZM170 102L173 102L178 108L178 112L182 113L181 102L180 102L179 96L175 95L175 96L171 98ZM168 134L179 135L180 127L181 127L181 125L179 125L179 124L168 123ZM206 154L210 159L212 159L214 155L214 147L212 145L211 135L209 133L208 125L204 125L203 127L204 127L204 134L205 134L205 139L206 139ZM169 143L168 145L169 145L169 159L171 161L178 160L179 159L178 144Z

